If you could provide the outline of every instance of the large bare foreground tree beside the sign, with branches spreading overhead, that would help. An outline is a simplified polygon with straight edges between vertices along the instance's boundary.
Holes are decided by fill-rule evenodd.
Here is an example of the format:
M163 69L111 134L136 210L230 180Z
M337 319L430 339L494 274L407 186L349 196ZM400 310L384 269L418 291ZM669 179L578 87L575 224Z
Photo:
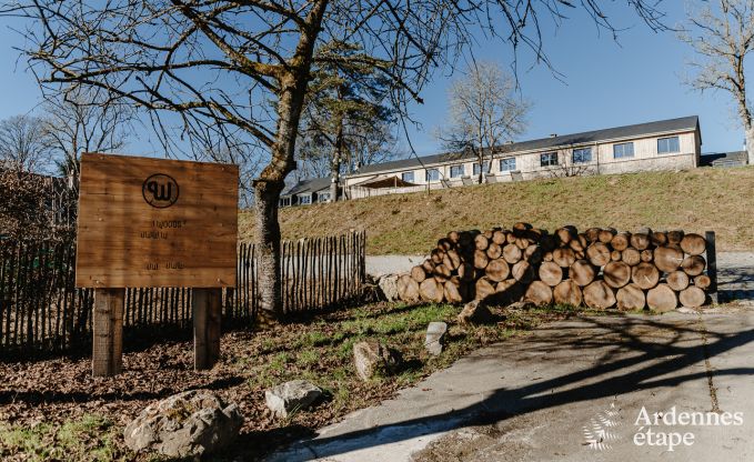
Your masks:
M629 0L661 27L655 0ZM253 181L263 321L282 314L278 201L295 168L295 141L315 64L329 41L360 43L384 62L393 106L405 112L432 70L469 49L472 37L524 44L546 62L540 20L559 22L567 0L17 0L8 14L31 19L27 54L42 87L105 90L149 111L157 132L221 139L234 130L269 152ZM582 2L614 31L597 2ZM575 8L575 7L573 7ZM501 31L501 32L499 32ZM349 60L329 56L322 59ZM172 116L171 116L172 114Z

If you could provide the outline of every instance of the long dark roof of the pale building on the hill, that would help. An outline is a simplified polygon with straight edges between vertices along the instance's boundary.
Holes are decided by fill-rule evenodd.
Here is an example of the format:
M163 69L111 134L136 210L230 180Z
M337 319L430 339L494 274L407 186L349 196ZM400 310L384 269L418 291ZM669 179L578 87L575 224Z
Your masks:
M539 140L521 141L517 143L504 144L496 149L496 153L531 151L537 149L549 149L570 144L583 144L595 141L613 140L622 138L635 138L650 133L663 133L680 130L695 130L698 127L698 117L690 116L678 119L659 120L655 122L637 123L634 125L615 127L612 129L585 131L582 133L564 134L560 137L541 138ZM421 165L452 162L455 160L473 159L474 155L465 152L449 152L434 155L424 155L419 159L403 159L392 162L375 163L372 165L364 165L359 171L354 172L356 175L366 173L378 173L389 170L401 170L409 168L418 168Z

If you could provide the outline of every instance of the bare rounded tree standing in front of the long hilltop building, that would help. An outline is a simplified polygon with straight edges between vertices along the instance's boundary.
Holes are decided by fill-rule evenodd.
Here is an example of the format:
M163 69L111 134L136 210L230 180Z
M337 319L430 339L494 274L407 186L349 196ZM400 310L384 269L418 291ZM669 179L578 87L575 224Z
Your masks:
M485 159L526 127L531 104L515 90L514 78L487 61L472 61L466 76L451 83L450 128L440 139L450 150L474 153L479 183L484 181Z

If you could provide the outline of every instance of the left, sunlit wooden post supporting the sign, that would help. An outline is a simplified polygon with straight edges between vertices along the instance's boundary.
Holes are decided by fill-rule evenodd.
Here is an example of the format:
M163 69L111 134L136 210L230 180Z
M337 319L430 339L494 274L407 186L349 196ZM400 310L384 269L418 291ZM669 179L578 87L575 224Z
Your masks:
M92 375L118 375L123 368L125 289L94 289Z

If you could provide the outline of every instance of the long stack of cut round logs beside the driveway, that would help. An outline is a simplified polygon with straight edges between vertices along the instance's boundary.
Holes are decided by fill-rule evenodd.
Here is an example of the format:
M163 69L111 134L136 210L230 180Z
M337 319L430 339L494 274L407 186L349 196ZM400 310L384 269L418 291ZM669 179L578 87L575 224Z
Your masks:
M593 309L668 311L706 302L707 243L683 231L619 232L527 223L450 232L422 264L399 278L405 301L460 303L497 298Z

